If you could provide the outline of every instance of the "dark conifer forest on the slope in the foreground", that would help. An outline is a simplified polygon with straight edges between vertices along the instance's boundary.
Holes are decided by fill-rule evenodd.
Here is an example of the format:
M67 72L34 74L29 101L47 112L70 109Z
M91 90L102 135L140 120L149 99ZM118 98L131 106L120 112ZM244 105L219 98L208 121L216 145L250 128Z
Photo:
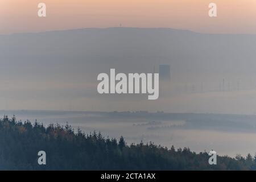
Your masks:
M46 152L46 165L38 152ZM0 170L251 170L256 159L217 156L209 165L207 152L189 148L168 149L152 143L131 144L123 137L104 138L101 133L75 132L70 125L49 125L0 119Z

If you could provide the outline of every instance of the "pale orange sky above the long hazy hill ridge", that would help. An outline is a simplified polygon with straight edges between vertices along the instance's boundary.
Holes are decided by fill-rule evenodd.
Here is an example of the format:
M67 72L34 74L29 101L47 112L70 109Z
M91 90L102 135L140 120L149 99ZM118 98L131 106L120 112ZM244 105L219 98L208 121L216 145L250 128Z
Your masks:
M47 17L37 16L38 3ZM217 4L217 18L208 5ZM86 27L170 27L256 33L255 0L0 0L0 34Z

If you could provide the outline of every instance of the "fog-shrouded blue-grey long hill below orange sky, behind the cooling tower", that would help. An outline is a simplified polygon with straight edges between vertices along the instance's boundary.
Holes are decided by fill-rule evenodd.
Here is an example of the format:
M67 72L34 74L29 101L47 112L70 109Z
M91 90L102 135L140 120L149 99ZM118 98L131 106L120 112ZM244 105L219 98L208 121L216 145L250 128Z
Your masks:
M0 109L256 113L256 35L87 28L0 36ZM97 76L169 64L159 99L98 94Z

